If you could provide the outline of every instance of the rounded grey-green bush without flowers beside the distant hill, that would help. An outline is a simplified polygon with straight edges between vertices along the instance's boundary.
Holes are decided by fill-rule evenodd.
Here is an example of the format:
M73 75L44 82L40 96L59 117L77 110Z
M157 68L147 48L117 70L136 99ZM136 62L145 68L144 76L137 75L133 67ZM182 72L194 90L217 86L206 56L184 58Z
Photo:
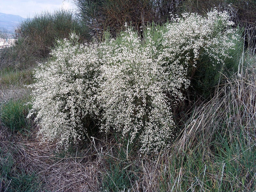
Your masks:
M49 57L55 39L68 38L74 30L77 34L83 34L80 24L70 11L58 10L54 13L46 11L37 14L18 26L16 46L21 46L19 57L23 59L27 56Z

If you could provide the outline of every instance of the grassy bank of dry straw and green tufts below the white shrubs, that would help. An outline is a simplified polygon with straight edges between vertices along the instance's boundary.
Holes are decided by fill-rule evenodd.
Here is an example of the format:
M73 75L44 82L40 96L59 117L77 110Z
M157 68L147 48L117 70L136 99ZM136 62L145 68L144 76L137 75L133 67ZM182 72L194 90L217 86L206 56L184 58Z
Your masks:
M114 137L56 151L40 143L33 123L3 125L6 115L12 119L3 107L15 107L7 101L1 191L255 191L255 80L255 57L248 57L211 101L194 108L175 142L153 156Z

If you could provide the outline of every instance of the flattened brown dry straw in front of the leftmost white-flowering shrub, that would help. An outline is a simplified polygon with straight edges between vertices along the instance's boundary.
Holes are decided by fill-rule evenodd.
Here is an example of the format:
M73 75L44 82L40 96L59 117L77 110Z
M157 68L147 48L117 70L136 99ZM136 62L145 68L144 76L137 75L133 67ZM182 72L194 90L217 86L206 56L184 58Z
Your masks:
M70 153L58 154L54 145L40 143L36 130L28 136L13 135L1 126L0 149L5 154L12 154L14 171L36 173L42 184L39 191L98 190L100 172L97 167L100 161L97 154L77 148Z

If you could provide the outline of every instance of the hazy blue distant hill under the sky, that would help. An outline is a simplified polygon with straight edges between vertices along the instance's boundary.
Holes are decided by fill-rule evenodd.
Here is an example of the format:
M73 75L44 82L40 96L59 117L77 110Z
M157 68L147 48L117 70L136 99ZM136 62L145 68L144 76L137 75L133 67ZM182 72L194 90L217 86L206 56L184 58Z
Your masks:
M15 34L15 28L25 18L19 15L0 13L0 30L7 34Z

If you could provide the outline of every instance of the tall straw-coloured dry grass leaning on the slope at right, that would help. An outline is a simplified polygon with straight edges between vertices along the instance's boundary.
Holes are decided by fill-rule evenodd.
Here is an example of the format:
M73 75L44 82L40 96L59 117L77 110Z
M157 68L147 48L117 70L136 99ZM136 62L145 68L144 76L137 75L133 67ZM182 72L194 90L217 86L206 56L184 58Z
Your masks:
M237 74L226 80L227 83L210 102L194 110L182 136L175 143L177 151L192 148L198 143L197 136L201 136L205 143L211 143L215 130L223 129L221 125L224 124L229 128L226 134L242 127L244 131L255 128L256 61L250 63L254 66L243 69L241 65Z

